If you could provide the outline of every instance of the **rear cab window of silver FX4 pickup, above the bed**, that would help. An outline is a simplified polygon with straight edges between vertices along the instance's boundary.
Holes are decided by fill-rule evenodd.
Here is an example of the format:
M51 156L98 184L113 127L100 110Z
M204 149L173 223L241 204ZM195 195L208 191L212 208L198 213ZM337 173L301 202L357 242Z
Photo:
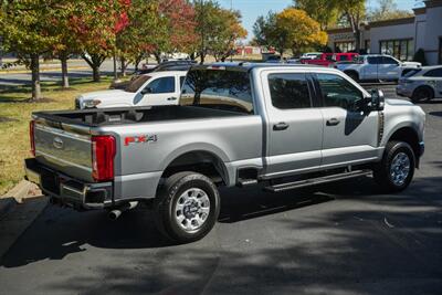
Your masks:
M191 70L182 86L180 105L253 113L249 73L225 70Z

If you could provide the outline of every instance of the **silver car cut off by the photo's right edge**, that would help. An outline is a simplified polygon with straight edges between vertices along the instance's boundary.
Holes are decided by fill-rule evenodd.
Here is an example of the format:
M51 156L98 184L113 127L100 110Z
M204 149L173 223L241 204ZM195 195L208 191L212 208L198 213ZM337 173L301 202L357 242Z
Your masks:
M413 103L442 98L442 65L410 71L399 80L396 93L411 98Z

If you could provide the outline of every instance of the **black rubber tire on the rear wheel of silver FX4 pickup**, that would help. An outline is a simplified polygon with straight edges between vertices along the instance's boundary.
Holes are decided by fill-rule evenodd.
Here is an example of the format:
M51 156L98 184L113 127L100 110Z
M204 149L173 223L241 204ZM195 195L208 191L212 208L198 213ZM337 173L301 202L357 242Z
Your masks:
M199 211L193 211L197 210L196 208L198 208L199 204L190 204L185 207L182 210L178 210L178 201L182 200L185 192L191 190L202 191L206 193L206 197L210 202L208 215L204 215L206 213L199 213ZM206 197L203 197L204 200L207 200ZM193 202L197 202L197 199L193 197L189 198L189 202L191 201L190 199L194 200ZM190 215L193 214L193 219L189 226L193 226L193 221L197 222L197 220L194 220L197 215L202 218L201 214L203 214L206 219L198 229L185 230L182 226L185 226L191 218L186 218L182 221L186 224L180 224L177 218L178 212L181 217L185 217L185 212L188 212ZM178 172L170 176L160 188L159 193L154 201L154 213L157 228L162 234L177 243L190 243L202 239L215 224L220 214L220 194L215 185L208 177L191 171Z

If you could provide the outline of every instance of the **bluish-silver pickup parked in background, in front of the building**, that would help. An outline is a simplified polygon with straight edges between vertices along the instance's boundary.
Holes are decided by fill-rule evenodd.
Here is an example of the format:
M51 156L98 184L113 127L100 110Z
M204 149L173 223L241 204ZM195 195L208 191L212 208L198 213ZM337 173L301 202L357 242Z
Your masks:
M355 81L398 81L403 71L420 66L420 63L401 62L383 54L360 55L354 62L336 63L336 69Z

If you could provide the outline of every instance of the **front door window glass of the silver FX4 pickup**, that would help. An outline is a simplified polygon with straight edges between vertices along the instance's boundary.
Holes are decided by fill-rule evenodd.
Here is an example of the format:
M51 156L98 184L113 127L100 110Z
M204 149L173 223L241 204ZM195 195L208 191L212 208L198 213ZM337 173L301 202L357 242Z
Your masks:
M350 82L335 74L316 74L323 94L324 106L352 109L364 98L362 93Z

